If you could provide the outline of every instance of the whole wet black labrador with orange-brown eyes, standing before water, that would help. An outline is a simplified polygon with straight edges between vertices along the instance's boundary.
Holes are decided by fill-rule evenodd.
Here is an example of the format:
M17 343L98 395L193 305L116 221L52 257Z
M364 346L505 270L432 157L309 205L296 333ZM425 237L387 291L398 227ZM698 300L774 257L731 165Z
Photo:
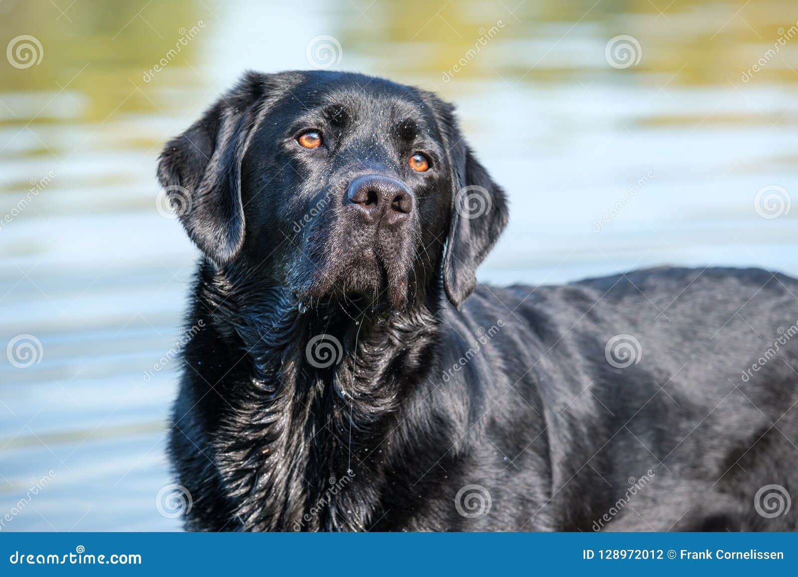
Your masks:
M452 105L355 73L247 73L158 176L203 253L187 529L798 527L795 279L478 284L504 192Z

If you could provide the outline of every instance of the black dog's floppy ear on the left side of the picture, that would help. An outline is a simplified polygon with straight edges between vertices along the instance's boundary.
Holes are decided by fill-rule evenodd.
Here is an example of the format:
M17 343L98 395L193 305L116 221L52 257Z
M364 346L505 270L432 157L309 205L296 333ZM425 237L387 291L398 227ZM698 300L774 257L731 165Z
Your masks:
M189 238L217 266L241 250L241 160L267 93L267 75L247 72L203 117L164 146L158 180Z

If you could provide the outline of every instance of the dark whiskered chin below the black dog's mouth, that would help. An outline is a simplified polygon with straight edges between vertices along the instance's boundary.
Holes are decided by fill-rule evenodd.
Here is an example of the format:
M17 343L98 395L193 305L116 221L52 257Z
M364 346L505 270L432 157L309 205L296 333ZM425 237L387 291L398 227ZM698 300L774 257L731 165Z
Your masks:
M298 291L298 298L322 302L325 298L341 300L361 310L404 310L408 301L408 275L386 267L373 252L359 255L349 262L330 259L311 275L310 282Z

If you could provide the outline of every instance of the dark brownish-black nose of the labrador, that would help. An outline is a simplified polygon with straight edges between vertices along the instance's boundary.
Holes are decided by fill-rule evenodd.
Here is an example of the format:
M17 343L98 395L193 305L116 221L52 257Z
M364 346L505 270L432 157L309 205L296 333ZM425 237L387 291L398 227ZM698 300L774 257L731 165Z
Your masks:
M358 176L347 189L346 198L366 223L400 223L413 211L413 195L399 180L388 176Z

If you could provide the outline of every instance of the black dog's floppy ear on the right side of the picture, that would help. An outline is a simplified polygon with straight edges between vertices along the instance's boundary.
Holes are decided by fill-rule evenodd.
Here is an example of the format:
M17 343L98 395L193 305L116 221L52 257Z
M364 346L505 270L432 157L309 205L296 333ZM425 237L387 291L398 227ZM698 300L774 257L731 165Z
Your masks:
M444 290L449 301L460 306L476 287L476 267L507 224L507 197L465 144L452 105L433 98L428 102L438 118L452 166L452 213L444 255Z

